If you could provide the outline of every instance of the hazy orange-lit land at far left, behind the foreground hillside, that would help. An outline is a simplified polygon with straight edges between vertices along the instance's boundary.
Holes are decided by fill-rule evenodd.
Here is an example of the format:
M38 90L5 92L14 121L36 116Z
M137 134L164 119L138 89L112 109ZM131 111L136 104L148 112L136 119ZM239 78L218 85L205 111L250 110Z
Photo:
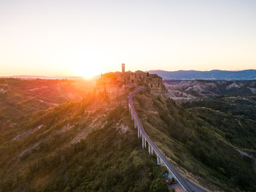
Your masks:
M0 78L0 131L38 110L81 100L94 87L94 81Z

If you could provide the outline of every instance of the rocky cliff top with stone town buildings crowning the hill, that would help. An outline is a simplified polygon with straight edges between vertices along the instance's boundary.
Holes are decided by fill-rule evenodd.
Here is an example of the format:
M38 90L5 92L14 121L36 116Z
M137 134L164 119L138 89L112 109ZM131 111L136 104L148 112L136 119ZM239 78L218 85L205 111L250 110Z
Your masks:
M152 95L164 95L166 93L162 78L159 75L137 70L135 73L127 71L101 75L96 83L96 94L116 95L117 92L121 92L123 89L137 85L149 87Z

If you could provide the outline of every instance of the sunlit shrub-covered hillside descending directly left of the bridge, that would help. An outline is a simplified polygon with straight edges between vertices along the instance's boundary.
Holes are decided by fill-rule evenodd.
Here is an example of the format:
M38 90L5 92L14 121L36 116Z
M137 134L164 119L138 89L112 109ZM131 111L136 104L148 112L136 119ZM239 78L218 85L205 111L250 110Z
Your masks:
M2 131L0 191L168 191L137 139L128 93L87 95Z

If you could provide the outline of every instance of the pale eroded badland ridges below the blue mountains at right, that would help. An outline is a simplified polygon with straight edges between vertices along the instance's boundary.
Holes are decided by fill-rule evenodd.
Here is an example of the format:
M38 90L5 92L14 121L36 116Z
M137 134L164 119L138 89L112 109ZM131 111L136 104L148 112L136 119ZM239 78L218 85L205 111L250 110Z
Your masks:
M176 102L198 100L220 95L255 95L256 80L164 80L170 98Z

